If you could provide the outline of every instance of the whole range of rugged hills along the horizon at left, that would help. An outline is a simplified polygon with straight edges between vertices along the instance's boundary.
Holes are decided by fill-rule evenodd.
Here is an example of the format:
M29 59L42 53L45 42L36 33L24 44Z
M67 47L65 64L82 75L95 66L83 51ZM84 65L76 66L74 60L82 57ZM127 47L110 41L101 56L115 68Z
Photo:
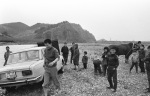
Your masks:
M41 41L45 38L58 39L61 42L96 42L95 37L79 24L68 21L57 24L37 23L28 26L21 22L0 25L0 33L21 41ZM0 37L1 38L1 37Z

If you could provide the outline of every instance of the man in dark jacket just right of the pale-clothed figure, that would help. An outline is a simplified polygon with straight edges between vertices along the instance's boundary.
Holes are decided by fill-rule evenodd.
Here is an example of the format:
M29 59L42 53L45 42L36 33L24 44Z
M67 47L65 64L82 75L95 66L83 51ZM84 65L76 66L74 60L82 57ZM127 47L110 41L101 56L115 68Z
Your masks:
M141 45L139 50L139 67L141 69L141 73L145 73L144 58L145 58L144 45Z

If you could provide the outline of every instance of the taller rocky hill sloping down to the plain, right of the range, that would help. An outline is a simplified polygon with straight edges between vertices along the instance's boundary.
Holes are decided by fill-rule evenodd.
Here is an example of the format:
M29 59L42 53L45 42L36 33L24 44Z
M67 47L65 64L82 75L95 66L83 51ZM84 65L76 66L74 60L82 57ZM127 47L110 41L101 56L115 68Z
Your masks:
M62 22L35 31L36 38L51 38L67 42L95 42L95 37L80 25Z

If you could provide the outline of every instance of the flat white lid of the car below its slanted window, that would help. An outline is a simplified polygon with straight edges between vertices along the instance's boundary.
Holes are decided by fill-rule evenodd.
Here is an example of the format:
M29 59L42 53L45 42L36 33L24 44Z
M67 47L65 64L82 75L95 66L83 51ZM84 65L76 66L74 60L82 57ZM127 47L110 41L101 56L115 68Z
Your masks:
M6 65L6 66L0 68L0 72L10 71L10 70L29 69L30 66L31 66L32 64L35 64L36 62L38 62L38 61L35 60L35 61L27 61L27 62L12 64L12 65Z

